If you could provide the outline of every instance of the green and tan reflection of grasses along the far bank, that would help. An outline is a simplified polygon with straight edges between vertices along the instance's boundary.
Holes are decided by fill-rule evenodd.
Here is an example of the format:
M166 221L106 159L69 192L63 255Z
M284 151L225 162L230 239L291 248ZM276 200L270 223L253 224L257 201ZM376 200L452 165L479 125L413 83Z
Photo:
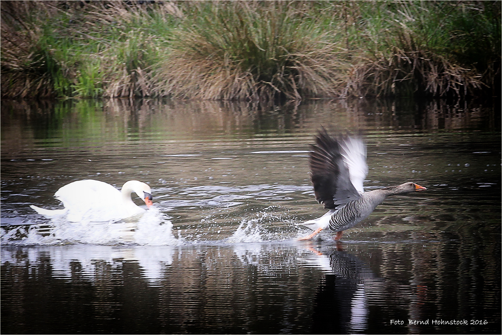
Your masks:
M314 100L282 106L154 99L2 101L2 141L10 148L22 148L28 143L58 146L82 140L96 144L100 140L131 143L142 139L177 140L181 135L192 140L201 137L221 140L239 133L252 138L253 134L272 137L302 129L313 132L321 124L373 132L377 129L379 132L499 131L500 115L494 109L472 101L452 105L434 100L419 104L409 99ZM29 125L29 134L23 124Z

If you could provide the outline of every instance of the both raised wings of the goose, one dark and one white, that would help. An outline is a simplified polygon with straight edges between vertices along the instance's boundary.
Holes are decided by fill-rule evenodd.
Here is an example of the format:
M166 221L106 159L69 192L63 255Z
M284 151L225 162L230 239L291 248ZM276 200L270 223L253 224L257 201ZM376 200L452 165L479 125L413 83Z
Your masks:
M355 200L364 192L367 174L366 147L360 137L330 137L319 132L310 153L311 180L315 198L324 208Z

